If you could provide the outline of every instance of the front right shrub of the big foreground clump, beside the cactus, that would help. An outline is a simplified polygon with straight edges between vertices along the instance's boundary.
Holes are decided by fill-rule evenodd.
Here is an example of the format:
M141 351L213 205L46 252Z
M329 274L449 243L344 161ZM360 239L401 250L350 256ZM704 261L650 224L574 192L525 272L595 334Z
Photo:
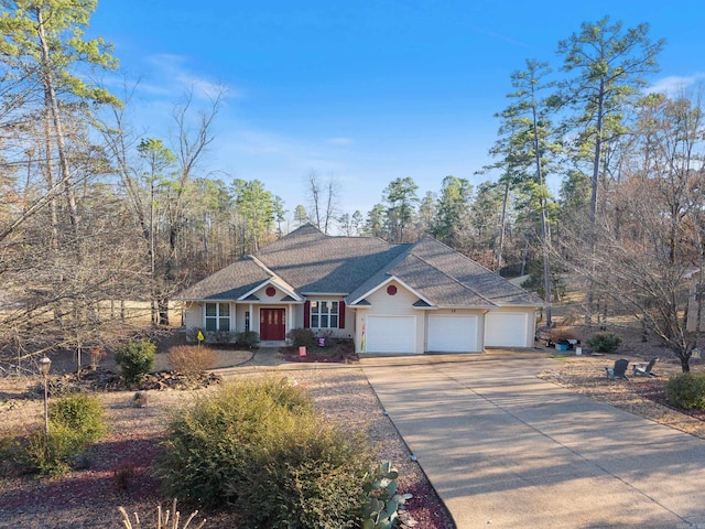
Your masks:
M361 438L310 415L274 432L271 443L258 457L260 472L227 481L246 527L359 527L356 493L370 466Z

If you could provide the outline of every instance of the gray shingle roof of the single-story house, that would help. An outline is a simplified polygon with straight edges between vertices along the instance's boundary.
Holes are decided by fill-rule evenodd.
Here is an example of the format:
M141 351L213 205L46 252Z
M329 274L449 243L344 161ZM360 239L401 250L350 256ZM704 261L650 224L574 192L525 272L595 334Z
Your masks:
M297 294L349 294L350 303L394 276L431 306L543 304L431 237L414 245L389 245L372 237L332 237L305 225L254 257L239 259L178 299L235 300L272 280L284 281Z

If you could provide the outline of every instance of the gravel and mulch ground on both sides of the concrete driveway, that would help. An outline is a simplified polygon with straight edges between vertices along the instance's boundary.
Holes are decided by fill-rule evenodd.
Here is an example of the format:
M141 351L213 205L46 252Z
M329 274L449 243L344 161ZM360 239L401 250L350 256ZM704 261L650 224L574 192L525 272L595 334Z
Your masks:
M400 492L414 498L408 505L408 527L427 529L454 528L452 518L430 486L419 465L393 424L382 412L377 396L358 365L339 364L284 364L280 366L250 366L251 354L223 353L223 365L240 364L228 369L231 376L262 376L276 369L301 388L310 391L321 413L341 428L367 432L372 446L378 449L378 460L391 461L399 469ZM259 353L258 353L259 355ZM626 357L631 365L646 363L659 356L654 371L658 378L630 377L629 381L612 381L605 376L605 367L616 358ZM593 399L622 408L655 422L705 439L703 414L686 414L673 409L665 401L664 386L668 377L681 373L680 364L665 349L639 344L622 346L617 355L574 356L568 352L555 368L540 375L541 378L567 387ZM274 364L282 364L276 361ZM693 371L703 371L702 360L693 360ZM61 370L61 363L55 364ZM70 369L70 367L66 367ZM52 370L55 371L54 366ZM29 427L42 423L42 400L37 391L39 378L0 379L0 439L21 433ZM200 391L209 391L204 389ZM13 476L14 466L3 462L0 476L0 528L105 528L119 527L118 506L139 512L142 527L155 527L156 505L171 506L170 498L162 497L159 484L151 477L151 465L159 452L159 443L165 434L171 410L186 404L193 391L149 391L145 408L132 406L133 391L98 393L111 424L108 436L88 453L90 467L72 472L58 478L37 479L32 476ZM188 506L180 506L184 515ZM207 512L206 528L235 527L228 512Z

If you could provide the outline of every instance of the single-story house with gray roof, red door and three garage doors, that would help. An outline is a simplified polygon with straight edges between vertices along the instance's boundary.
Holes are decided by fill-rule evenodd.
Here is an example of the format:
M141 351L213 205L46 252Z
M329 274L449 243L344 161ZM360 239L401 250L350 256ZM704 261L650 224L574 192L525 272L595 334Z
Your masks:
M358 353L480 353L533 347L542 300L424 237L390 245L305 225L183 291L193 335L293 328L351 338Z

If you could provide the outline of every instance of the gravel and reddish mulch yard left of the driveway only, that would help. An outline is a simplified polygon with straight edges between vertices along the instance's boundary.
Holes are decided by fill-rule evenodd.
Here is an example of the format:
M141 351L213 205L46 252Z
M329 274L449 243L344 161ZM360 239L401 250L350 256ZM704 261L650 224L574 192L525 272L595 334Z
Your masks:
M246 359L246 358L243 358ZM262 376L272 368L242 367L229 376ZM449 529L452 518L393 424L382 413L377 396L359 366L289 365L280 368L292 384L310 391L321 413L341 428L364 430L378 460L391 461L399 469L400 492L411 493L403 520L405 527ZM42 421L41 393L36 378L0 379L0 435L39 427ZM200 391L209 391L204 389ZM98 393L106 419L111 424L106 439L88 452L90 467L57 478L37 479L12 476L7 464L0 477L0 528L42 527L105 528L118 527L118 507L138 512L142 527L152 527L156 505L169 508L171 500L160 495L159 484L151 477L151 465L165 434L169 413L189 401L193 391L149 391L148 406L132 406L133 391ZM10 475L7 475L10 474ZM180 506L187 515L188 506ZM180 509L181 510L181 509ZM228 512L208 512L206 528L235 527ZM196 519L202 519L199 515ZM134 520L133 520L134 521ZM155 526L154 526L155 527ZM404 527L404 526L401 526Z

